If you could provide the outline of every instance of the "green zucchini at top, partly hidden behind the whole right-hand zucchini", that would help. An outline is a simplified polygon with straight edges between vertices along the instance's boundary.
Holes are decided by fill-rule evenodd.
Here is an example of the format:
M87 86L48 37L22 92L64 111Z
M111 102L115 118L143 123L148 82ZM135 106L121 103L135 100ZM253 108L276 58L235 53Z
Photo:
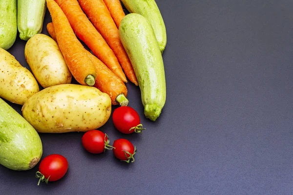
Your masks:
M159 43L161 53L167 44L167 33L164 20L155 0L121 0L130 13L140 14L150 22L156 39Z

